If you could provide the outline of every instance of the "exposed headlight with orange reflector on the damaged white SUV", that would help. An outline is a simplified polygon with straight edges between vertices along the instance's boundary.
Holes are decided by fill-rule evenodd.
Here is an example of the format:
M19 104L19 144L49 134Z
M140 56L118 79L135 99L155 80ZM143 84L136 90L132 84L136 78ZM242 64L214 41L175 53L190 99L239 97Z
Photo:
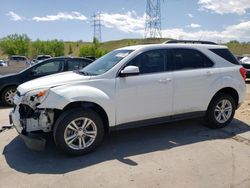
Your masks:
M41 103L47 97L48 93L49 88L32 90L25 94L23 100Z

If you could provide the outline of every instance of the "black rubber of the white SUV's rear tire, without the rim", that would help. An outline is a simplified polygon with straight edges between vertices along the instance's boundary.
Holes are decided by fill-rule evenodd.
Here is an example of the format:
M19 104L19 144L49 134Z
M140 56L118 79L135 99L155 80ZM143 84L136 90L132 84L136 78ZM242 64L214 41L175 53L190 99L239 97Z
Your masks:
M215 119L214 111L215 111L215 108L216 108L217 104L223 99L227 99L227 100L229 100L231 102L231 104L232 104L232 114L231 114L231 117L225 123L219 123ZM206 126L208 126L209 128L212 128L212 129L218 129L218 128L223 128L223 127L227 126L233 120L235 110L236 110L236 103L235 103L235 100L233 99L233 97L231 95L225 94L225 93L217 94L212 99L212 101L210 102L209 107L207 109L206 116L205 116Z

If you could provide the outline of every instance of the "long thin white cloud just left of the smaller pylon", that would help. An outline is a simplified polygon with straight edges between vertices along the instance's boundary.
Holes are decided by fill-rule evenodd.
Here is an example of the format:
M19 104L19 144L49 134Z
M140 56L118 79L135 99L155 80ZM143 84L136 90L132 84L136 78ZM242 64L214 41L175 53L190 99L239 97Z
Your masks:
M58 12L56 15L47 15L43 17L34 16L32 20L36 22L51 22L58 20L87 20L87 17L81 14L80 12Z

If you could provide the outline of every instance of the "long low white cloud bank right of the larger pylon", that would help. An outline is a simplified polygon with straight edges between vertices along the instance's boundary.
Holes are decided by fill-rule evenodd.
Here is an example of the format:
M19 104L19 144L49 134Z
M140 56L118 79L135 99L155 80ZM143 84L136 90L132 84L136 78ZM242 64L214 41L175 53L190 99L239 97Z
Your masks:
M184 38L190 40L222 40L227 42L230 40L250 41L250 21L241 22L236 25L227 26L222 31L216 30L199 30L187 32L182 28L162 30L162 36L166 38Z

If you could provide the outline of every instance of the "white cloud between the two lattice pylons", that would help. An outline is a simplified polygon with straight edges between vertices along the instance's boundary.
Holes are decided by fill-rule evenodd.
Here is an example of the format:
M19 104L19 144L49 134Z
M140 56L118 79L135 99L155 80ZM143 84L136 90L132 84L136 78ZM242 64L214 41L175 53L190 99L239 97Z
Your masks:
M126 33L142 33L145 27L145 17L137 16L135 11L128 11L125 14L102 13L102 24L107 28L116 28Z

